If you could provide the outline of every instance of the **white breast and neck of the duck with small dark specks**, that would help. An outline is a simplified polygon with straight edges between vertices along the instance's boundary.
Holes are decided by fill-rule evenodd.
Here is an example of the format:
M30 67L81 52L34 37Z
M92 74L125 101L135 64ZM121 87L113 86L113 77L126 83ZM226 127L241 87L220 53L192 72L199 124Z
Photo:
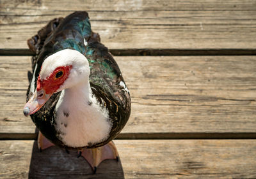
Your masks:
M89 82L63 90L56 114L56 129L63 143L70 147L105 140L111 130L108 110L97 102Z

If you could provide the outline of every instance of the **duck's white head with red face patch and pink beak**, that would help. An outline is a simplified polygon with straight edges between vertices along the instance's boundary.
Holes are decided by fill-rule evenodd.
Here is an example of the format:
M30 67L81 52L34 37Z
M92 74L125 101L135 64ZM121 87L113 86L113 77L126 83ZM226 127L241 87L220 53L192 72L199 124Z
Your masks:
M52 94L88 82L89 75L88 60L76 50L65 49L47 57L42 64L36 90L24 106L24 115L40 110Z

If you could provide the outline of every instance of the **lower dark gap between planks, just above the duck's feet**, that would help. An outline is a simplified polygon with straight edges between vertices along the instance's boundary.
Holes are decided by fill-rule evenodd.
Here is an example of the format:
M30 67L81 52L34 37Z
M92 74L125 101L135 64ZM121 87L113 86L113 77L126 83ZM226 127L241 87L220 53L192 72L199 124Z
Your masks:
M36 140L38 133L0 133L0 140ZM115 140L228 140L256 139L256 132L121 133Z

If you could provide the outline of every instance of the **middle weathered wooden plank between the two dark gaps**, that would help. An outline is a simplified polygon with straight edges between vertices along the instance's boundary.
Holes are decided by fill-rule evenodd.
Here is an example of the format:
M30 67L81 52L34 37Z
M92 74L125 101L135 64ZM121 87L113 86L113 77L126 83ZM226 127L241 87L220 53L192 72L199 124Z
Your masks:
M154 134L171 138L177 132L177 138L184 132L188 134L183 137L191 134L191 138L198 137L196 132L206 132L207 138L212 132L220 133L216 138L223 132L230 132L228 138L254 132L255 138L255 56L115 59L132 96L132 113L122 138L136 138L136 133L138 138L148 133L152 138L157 138ZM31 120L22 114L29 69L30 57L0 57L0 131L5 137L35 133Z

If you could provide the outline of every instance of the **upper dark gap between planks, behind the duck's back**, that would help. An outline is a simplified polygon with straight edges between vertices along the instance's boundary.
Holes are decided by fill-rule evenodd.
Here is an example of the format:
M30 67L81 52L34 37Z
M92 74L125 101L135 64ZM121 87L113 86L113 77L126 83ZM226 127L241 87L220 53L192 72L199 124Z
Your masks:
M109 52L115 56L179 56L179 55L256 55L256 49L151 49L151 48L127 48L127 49L109 49ZM35 55L29 49L2 48L0 55Z

